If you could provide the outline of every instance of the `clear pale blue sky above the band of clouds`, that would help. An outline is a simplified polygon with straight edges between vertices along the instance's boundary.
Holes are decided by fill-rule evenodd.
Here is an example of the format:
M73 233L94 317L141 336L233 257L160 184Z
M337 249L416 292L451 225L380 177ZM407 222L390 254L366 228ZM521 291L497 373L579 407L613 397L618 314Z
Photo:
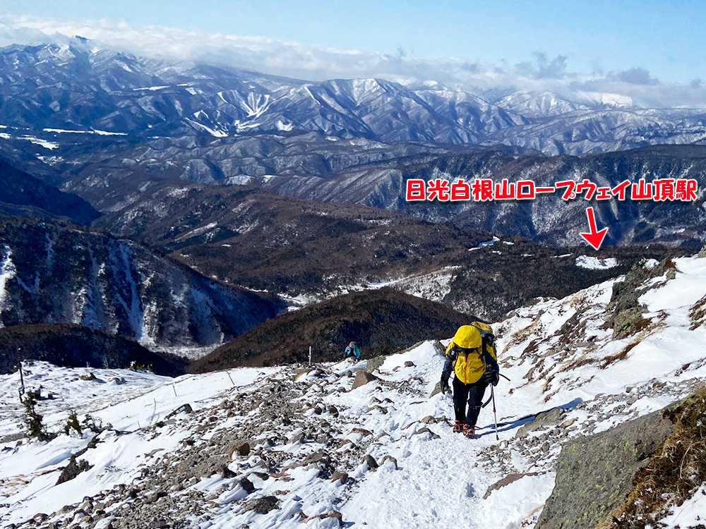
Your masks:
M706 79L701 1L106 1L0 2L4 12L56 20L124 20L207 33L261 35L342 49L515 65L566 56L570 71L645 68ZM503 62L504 61L504 62Z

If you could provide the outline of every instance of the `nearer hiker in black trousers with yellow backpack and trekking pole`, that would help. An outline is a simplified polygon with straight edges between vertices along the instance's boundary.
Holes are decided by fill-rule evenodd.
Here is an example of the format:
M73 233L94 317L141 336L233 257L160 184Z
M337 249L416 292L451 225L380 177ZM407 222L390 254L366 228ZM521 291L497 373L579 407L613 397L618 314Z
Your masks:
M455 372L453 411L456 421L453 431L473 437L486 387L489 384L496 386L500 379L493 329L481 322L462 325L448 344L445 354L446 361L441 372L442 393L450 392L448 379L451 372Z

